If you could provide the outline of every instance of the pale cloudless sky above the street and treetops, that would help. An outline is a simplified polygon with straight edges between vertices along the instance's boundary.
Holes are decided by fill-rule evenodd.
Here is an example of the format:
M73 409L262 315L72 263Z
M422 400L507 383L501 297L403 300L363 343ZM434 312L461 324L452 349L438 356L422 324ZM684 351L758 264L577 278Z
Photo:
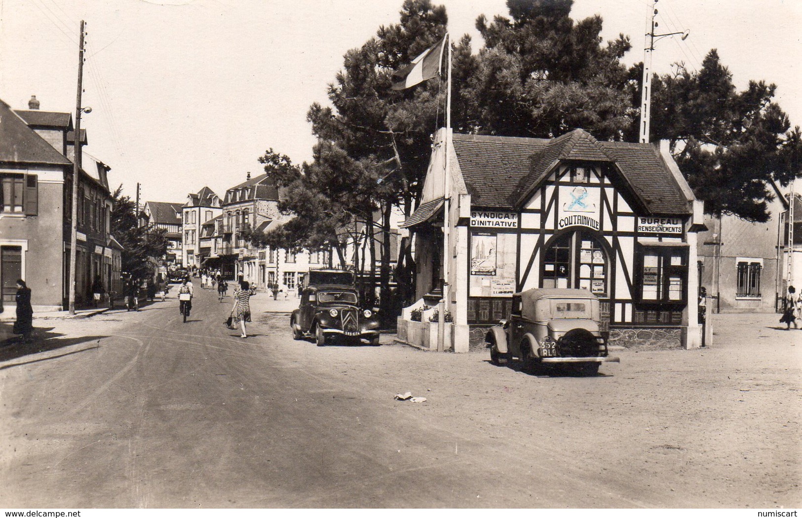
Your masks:
M0 0L0 98L75 115L79 26L87 22L82 106L89 154L111 166L112 187L184 203L209 186L222 195L261 174L268 148L309 160L306 122L347 50L399 22L403 0ZM449 30L481 46L476 17L506 15L504 0L434 0ZM630 36L625 62L643 58L650 0L575 0L572 17L600 14L602 37ZM653 70L698 70L711 48L739 89L776 83L776 102L802 126L799 0L660 0Z

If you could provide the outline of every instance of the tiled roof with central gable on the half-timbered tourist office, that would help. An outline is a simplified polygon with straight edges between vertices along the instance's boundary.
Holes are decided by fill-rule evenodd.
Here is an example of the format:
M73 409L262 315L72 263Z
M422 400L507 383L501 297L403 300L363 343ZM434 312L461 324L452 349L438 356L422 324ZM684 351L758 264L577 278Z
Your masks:
M597 141L577 129L557 139L454 135L460 171L475 207L515 209L558 163L614 163L652 214L689 214L687 201L651 144Z

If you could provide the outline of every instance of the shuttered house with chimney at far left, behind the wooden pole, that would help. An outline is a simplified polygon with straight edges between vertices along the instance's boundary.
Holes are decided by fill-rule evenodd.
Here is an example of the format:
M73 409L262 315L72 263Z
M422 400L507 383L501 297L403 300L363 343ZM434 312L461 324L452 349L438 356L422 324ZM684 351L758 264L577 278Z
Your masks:
M81 143L86 143L82 131ZM0 101L0 284L13 303L16 279L32 290L34 311L67 306L69 297L75 135L70 114L11 110ZM95 278L107 290L119 281L119 243L109 234L109 167L85 153L79 170L76 303L91 299Z

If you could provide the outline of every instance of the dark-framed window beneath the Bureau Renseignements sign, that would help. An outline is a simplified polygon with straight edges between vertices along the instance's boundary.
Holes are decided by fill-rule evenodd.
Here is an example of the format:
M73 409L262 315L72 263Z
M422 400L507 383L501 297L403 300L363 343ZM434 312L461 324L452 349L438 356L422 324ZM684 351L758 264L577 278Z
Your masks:
M688 278L687 247L642 247L643 302L682 302Z

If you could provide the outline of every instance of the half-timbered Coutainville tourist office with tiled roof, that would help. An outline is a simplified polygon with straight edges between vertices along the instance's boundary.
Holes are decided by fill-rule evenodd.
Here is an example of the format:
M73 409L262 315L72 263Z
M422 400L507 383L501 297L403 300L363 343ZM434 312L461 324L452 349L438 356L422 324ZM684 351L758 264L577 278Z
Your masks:
M402 227L415 235L416 295L434 303L448 283L450 347L480 346L508 318L513 293L537 287L597 295L610 343L699 346L703 207L667 149L581 129L556 139L455 134L448 144L446 135Z

